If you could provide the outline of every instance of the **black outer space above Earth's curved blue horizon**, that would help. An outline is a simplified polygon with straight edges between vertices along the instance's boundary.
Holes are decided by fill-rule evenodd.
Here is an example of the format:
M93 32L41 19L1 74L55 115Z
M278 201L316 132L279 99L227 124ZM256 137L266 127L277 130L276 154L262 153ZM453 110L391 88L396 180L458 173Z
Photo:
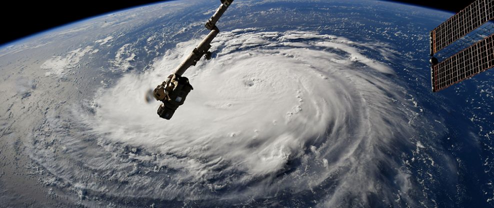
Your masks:
M76 20L159 1L84 0L53 2L16 0L9 1L8 3L4 2L0 12L0 19L3 21L1 24L0 45ZM449 2L447 4L438 3L437 0L397 1L457 12L473 0L455 3Z

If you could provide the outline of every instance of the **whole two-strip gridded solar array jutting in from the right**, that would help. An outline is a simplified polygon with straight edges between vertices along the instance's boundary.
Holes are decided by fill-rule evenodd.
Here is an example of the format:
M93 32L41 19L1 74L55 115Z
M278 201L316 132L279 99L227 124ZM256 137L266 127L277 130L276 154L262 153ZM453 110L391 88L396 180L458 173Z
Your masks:
M475 0L430 31L430 55L435 57L435 62L447 54L440 57L439 63L432 63L432 91L494 67L492 19L494 0ZM464 44L471 40L476 42Z

